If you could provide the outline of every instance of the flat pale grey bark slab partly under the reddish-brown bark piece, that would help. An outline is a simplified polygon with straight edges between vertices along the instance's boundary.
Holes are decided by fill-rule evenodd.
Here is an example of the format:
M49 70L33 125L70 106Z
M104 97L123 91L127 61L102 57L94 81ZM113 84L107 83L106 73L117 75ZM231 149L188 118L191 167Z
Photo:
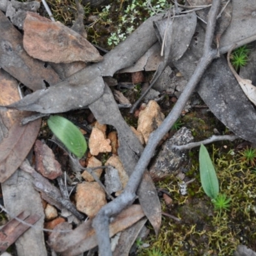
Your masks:
M33 255L47 256L44 232L44 209L40 195L33 188L33 179L30 175L18 169L12 177L1 184L4 197L4 206L7 211L16 216L21 211L28 211L30 214L38 214L41 218L29 228L15 242L19 256ZM33 202L33 204L31 204Z

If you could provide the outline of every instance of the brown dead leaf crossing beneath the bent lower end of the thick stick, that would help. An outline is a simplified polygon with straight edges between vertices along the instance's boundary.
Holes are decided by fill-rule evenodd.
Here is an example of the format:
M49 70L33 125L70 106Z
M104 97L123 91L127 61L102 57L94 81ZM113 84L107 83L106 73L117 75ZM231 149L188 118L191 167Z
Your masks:
M114 221L109 224L109 236L112 237L116 233L130 227L143 218L143 216L145 214L140 205L131 205L118 214ZM66 225L64 229L67 229ZM79 225L72 232L52 233L49 237L49 244L56 252L61 253L63 256L78 255L94 248L97 246L97 237L95 230L92 228L92 220Z

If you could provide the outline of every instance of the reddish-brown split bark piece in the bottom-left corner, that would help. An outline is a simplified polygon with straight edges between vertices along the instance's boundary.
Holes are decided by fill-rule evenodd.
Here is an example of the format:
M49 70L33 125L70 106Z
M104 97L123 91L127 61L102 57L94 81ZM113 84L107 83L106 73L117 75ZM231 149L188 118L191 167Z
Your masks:
M29 216L28 212L21 212L17 218L26 223L33 225L38 221L41 216L38 214L33 214ZM7 248L13 244L19 236L21 236L26 230L30 228L28 225L21 223L17 219L12 219L6 223L0 229L0 250L1 252L7 250ZM2 255L2 254L1 254Z

